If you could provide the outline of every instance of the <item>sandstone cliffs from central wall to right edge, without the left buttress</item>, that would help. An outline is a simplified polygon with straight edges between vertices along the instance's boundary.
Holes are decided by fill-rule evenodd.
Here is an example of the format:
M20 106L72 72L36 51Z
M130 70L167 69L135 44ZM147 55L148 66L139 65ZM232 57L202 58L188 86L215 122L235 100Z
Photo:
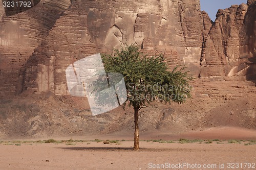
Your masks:
M134 42L197 77L255 75L255 2L248 5L219 10L212 22L199 0L73 1L19 73L19 88L68 94L69 64Z

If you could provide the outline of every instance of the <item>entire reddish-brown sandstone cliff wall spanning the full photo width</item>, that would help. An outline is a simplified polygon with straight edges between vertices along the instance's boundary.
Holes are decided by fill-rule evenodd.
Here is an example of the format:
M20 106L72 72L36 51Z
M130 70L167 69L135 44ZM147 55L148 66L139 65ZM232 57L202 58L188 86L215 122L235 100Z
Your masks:
M212 22L199 0L41 1L2 15L0 91L69 94L70 64L132 43L197 77L255 79L255 5L219 10Z

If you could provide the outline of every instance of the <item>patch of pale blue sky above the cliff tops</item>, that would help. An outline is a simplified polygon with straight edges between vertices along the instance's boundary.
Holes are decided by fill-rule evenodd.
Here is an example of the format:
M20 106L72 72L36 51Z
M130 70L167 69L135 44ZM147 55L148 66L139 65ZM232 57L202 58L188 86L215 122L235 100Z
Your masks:
M206 11L211 20L215 21L218 9L226 9L231 5L246 4L247 0L200 0L201 11Z

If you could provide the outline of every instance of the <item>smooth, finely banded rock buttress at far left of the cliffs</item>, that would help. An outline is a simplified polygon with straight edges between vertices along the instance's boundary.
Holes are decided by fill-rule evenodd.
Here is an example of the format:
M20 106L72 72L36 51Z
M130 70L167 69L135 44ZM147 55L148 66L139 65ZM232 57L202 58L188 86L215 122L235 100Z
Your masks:
M23 66L69 5L68 0L45 0L24 13L6 17L1 3L0 93L2 95L22 91Z

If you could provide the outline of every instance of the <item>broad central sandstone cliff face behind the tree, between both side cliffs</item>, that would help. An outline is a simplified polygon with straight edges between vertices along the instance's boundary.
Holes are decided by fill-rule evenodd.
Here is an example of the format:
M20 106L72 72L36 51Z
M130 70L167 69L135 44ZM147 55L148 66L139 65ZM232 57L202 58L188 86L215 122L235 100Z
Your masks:
M67 66L132 43L198 75L203 31L199 1L74 1L27 62L23 89L68 94Z

